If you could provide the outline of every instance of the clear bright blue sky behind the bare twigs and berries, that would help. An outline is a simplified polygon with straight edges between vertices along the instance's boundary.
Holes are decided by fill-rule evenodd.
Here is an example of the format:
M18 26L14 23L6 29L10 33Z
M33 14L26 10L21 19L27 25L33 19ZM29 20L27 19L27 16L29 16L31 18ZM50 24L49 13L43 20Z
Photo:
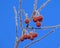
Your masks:
M41 6L46 0L38 0L38 5ZM16 28L14 20L13 6L18 9L19 0L0 0L0 48L14 48ZM29 17L33 11L33 0L23 0L23 9L29 14ZM51 26L60 24L60 0L51 0L51 2L42 9L41 15L44 20L42 26ZM24 17L24 16L23 16ZM35 23L34 23L35 24ZM34 25L32 23L32 25ZM38 30L38 38L49 32L48 30ZM19 32L19 35L21 31ZM36 40L35 39L35 40ZM26 44L30 43L30 40L25 40L19 44L19 48L23 48ZM31 45L29 48L59 48L60 46L60 28L55 29L55 32Z

